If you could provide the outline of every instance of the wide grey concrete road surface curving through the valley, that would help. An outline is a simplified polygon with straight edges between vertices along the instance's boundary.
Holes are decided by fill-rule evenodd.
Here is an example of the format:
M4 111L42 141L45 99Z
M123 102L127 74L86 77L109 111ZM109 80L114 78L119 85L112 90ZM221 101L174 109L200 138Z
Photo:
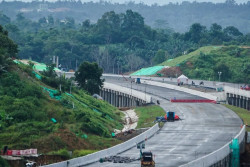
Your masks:
M106 78L106 81L122 86L127 84L116 79ZM145 90L145 85L140 84L133 88ZM165 123L157 134L146 141L145 151L153 152L157 167L177 167L209 154L231 141L240 131L240 118L220 104L170 103L167 99L172 96L194 97L155 86L147 86L146 90L156 95L153 97L161 101L160 106L165 111L175 111L182 118L181 121ZM139 150L134 147L119 156L138 158ZM96 162L88 166L138 167L140 161L126 164Z

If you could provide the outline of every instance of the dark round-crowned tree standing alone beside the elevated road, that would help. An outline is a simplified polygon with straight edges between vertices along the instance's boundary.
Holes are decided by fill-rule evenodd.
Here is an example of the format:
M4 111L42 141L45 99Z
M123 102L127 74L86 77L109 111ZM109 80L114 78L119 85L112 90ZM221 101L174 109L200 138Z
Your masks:
M90 94L99 93L104 80L101 79L103 70L97 63L83 62L75 72L78 85Z

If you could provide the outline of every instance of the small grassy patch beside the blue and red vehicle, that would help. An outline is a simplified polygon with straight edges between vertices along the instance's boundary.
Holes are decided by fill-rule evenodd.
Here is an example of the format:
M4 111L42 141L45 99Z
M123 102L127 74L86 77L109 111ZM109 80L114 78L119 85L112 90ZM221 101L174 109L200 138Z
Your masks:
M154 120L158 116L164 116L165 111L157 105L137 107L135 109L139 117L136 128L146 128L154 125Z

